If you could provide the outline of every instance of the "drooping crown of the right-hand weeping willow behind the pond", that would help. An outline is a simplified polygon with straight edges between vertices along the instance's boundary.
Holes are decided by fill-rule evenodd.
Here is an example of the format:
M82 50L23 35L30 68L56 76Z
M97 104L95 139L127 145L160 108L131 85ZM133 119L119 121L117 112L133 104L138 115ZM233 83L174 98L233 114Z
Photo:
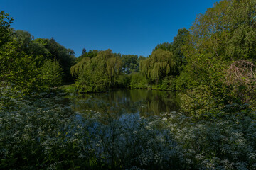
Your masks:
M152 54L141 62L141 72L147 79L155 81L174 74L176 62L173 53L167 50L154 50Z

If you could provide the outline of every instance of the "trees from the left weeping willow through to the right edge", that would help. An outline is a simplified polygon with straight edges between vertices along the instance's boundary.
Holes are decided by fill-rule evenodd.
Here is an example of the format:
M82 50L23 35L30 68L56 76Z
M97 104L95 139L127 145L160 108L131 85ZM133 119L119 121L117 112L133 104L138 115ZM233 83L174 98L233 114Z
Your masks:
M252 0L220 1L199 14L189 30L178 30L173 42L157 45L149 57L137 57L134 69L110 50L92 57L85 52L71 69L75 84L82 91L114 86L186 91L185 111L230 103L254 106L255 10Z

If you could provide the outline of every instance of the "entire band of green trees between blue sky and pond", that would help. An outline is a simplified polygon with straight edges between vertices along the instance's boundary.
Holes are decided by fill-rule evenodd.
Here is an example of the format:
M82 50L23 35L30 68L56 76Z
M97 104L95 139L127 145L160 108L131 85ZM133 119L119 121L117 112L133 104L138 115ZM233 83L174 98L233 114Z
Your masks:
M82 92L111 88L186 91L188 107L210 109L255 103L255 1L224 0L182 28L173 42L156 45L149 57L83 49L74 57L53 38L34 39L10 28L1 12L1 86L36 89L72 84Z

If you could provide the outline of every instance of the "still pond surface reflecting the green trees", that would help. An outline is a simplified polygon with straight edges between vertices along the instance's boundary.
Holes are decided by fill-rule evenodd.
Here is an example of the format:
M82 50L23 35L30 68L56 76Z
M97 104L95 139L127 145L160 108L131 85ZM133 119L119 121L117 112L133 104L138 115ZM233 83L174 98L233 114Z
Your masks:
M73 109L80 113L136 114L140 117L178 111L179 99L174 91L118 89L106 93L70 96Z

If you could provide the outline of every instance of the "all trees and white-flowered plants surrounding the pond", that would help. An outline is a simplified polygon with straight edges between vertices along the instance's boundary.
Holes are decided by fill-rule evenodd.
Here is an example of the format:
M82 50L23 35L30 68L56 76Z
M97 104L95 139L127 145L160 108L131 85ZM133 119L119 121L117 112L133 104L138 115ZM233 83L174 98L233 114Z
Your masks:
M255 11L253 0L223 0L149 57L84 49L77 59L10 28L2 11L0 169L256 169ZM56 88L73 82L62 88L183 91L182 112L120 115L118 102L75 112Z

